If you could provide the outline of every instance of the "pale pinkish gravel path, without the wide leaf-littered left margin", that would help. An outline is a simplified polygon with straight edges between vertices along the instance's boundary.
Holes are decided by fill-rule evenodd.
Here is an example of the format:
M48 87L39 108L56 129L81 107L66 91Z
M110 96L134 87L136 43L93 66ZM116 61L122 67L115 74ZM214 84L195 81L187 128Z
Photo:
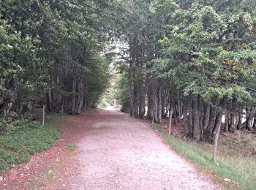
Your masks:
M218 189L160 139L148 123L102 110L70 118L77 150L50 189Z

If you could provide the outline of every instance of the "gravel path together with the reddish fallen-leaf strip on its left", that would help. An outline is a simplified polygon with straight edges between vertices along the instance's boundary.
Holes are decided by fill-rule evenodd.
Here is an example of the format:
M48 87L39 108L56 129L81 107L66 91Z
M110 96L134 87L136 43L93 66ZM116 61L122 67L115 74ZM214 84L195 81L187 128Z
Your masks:
M61 139L5 173L0 189L221 189L146 121L98 110L60 125Z

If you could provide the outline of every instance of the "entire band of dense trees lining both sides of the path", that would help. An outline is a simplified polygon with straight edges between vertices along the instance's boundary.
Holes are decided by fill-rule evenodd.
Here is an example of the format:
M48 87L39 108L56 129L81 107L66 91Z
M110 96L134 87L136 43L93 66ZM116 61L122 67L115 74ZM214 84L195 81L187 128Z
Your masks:
M255 7L252 0L1 1L1 115L44 104L80 114L96 106L115 62L116 98L131 116L161 123L171 115L195 140L214 139L222 115L225 131L255 130Z

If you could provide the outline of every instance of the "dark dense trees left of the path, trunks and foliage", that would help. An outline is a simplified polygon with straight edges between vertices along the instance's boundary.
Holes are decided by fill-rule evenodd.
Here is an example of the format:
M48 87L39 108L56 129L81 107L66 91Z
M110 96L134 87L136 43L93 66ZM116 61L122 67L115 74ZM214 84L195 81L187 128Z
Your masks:
M1 1L0 109L80 114L108 86L104 1Z

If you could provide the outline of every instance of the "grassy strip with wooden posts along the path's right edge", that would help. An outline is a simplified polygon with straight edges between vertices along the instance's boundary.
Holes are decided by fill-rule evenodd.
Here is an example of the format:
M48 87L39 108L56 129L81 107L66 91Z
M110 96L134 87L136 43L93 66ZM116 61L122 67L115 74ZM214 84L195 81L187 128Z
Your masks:
M185 159L203 170L214 172L215 180L224 184L227 189L256 189L256 159L255 156L246 155L255 148L255 137L240 133L230 134L230 137L222 135L217 164L214 164L211 160L212 145L181 140L173 135L169 136L160 126L152 127Z

